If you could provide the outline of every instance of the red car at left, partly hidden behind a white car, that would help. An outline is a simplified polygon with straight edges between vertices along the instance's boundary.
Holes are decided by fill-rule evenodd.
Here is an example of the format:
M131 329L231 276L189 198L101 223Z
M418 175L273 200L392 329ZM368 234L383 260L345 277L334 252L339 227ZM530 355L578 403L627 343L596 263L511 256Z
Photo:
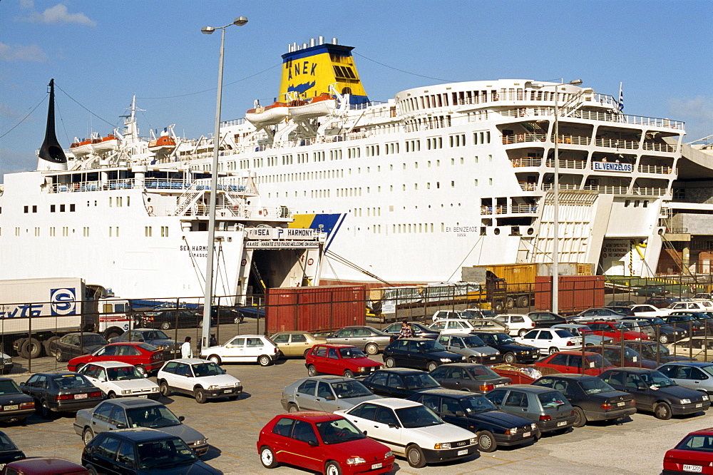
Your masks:
M116 342L97 349L92 354L72 358L67 363L70 371L79 371L87 363L118 361L133 364L143 375L158 371L163 366L163 350L143 342Z

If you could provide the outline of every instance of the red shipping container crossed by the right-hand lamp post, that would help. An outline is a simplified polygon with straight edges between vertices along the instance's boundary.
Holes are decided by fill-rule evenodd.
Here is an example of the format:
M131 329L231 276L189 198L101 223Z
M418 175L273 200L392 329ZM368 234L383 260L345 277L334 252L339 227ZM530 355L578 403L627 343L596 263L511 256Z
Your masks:
M558 312L571 315L604 306L604 275L560 275ZM552 276L535 277L535 310L552 309Z

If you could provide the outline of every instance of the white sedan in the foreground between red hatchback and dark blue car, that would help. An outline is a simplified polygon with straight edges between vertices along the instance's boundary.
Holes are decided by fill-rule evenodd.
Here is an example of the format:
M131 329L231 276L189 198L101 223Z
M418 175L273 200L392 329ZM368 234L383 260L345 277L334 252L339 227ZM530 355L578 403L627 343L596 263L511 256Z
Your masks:
M409 465L463 459L478 452L471 431L446 424L423 404L404 399L374 399L348 411L337 411L377 439L395 454L406 456Z

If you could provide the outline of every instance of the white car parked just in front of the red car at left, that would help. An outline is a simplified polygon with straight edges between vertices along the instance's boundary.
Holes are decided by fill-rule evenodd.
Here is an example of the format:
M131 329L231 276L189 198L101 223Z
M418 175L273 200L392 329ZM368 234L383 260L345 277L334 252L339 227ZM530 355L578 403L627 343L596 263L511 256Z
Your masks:
M158 384L138 372L132 364L103 361L85 364L79 371L109 399L115 397L148 397L158 399Z

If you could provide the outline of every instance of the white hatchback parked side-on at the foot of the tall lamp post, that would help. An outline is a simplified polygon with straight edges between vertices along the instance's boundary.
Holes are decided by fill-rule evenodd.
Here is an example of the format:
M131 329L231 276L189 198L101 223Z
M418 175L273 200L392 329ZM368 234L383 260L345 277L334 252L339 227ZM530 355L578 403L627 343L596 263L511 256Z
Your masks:
M200 357L215 364L257 362L270 366L277 359L277 345L261 334L239 334L226 344L201 349Z

